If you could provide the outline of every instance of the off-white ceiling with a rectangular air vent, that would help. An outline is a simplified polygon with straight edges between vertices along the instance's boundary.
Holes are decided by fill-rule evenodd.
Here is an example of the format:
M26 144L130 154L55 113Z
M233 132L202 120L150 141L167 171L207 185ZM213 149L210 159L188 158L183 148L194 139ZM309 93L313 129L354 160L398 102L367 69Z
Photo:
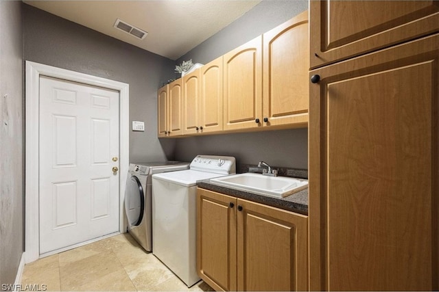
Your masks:
M235 21L261 0L23 2L175 60ZM146 38L139 40L115 29L113 25L117 18L147 31Z

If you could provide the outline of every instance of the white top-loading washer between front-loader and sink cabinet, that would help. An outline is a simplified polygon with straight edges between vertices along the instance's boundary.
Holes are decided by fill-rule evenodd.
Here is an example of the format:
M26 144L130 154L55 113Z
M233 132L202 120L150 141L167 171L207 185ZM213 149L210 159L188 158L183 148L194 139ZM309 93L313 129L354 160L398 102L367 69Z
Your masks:
M235 157L198 155L189 170L152 175L152 253L187 287L196 270L196 183L235 174Z

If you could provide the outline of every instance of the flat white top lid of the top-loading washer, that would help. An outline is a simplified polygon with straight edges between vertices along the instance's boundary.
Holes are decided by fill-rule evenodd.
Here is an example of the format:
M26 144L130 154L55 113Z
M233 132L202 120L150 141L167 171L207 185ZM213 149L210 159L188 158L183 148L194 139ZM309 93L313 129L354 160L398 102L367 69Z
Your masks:
M167 181L168 183L175 183L185 187L192 187L197 185L197 181L204 179L224 176L224 174L215 174L213 172L200 172L198 170L180 170L178 172L163 172L161 174L153 174L152 179L160 181ZM154 184L154 183L153 183Z

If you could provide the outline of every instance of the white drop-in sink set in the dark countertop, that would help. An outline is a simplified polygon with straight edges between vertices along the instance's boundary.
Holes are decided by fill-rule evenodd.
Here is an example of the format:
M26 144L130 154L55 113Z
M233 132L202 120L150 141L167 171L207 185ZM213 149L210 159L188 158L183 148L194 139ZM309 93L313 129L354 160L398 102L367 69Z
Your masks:
M255 194L284 198L308 187L308 181L285 176L264 176L262 174L245 173L211 178L211 183L250 191Z

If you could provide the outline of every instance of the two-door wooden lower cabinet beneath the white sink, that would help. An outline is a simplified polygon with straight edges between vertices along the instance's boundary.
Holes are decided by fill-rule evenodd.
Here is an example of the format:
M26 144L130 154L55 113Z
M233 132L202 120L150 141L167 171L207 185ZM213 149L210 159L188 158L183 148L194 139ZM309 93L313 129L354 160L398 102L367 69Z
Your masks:
M206 189L197 269L216 291L307 291L308 217Z

